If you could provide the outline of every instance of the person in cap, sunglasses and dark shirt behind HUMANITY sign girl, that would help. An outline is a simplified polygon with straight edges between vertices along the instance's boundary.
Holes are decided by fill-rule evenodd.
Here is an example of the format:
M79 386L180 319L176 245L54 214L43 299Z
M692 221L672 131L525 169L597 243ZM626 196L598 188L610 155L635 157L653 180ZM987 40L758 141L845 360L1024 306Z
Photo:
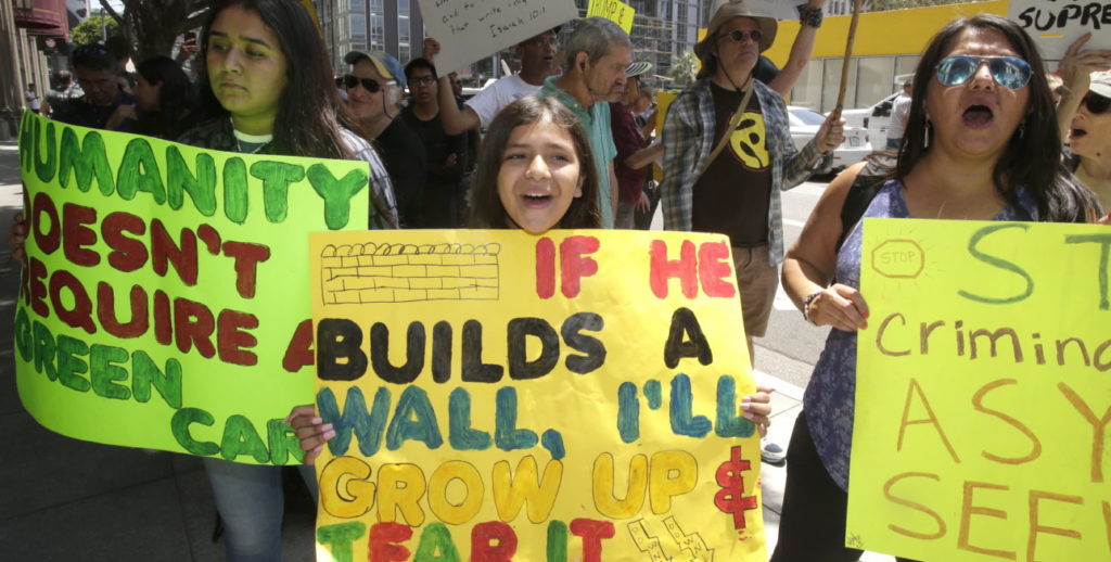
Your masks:
M406 76L397 59L380 51L351 51L343 57L351 73L343 77L348 107L359 121L362 134L382 152L386 169L398 197L401 225L422 228L421 200L428 177L428 159L420 138L397 119Z

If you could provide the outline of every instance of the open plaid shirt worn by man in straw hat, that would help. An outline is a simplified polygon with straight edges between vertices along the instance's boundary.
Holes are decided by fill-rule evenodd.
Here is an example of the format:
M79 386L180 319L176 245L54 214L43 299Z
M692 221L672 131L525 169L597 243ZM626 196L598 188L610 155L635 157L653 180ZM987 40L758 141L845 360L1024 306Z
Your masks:
M802 150L794 148L783 98L754 80L755 98L767 123L768 152L771 154L771 200L768 204L768 252L774 264L783 261L783 210L779 192L805 181L810 174L832 162L832 154L821 158L814 141ZM713 150L717 122L710 80L702 79L682 91L668 109L663 127L663 228L690 231L694 183Z

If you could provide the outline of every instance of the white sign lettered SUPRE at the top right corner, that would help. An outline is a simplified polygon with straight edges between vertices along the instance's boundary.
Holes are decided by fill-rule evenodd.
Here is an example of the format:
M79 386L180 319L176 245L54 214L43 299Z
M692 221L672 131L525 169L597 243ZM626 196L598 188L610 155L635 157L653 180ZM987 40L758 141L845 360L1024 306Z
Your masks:
M1007 17L1030 33L1045 60L1060 60L1088 32L1085 49L1111 49L1111 0L1011 0Z

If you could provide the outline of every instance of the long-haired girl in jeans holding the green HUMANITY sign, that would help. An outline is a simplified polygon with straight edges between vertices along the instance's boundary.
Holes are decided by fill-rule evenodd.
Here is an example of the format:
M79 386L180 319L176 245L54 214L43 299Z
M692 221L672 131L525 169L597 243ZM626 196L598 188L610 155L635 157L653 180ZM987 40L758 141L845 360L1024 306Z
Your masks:
M202 34L202 110L213 119L181 142L248 153L370 163L370 228L397 224L389 177L374 150L346 127L320 33L294 0L217 4ZM281 468L204 458L230 561L281 558ZM306 483L316 492L311 470Z

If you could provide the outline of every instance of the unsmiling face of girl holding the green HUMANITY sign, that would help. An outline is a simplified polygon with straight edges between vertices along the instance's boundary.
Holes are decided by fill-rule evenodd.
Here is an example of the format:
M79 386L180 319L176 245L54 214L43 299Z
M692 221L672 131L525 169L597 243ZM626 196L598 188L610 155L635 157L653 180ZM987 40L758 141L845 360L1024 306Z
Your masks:
M221 11L209 31L207 53L212 93L232 119L272 122L286 91L288 63L278 36L259 13L238 6Z

